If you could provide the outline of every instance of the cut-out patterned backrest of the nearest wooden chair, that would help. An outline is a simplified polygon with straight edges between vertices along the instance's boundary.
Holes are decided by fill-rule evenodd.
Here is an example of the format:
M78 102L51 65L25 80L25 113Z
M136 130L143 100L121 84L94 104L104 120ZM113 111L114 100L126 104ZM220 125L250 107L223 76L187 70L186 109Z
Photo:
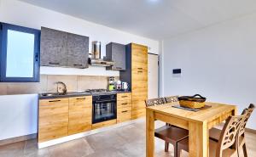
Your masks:
M247 110L244 109L241 115L230 116L220 134L218 147L216 151L216 157L222 157L224 149L229 149L231 146L235 146L234 154L237 154L237 142L238 133L240 131L241 122L244 121L247 115Z

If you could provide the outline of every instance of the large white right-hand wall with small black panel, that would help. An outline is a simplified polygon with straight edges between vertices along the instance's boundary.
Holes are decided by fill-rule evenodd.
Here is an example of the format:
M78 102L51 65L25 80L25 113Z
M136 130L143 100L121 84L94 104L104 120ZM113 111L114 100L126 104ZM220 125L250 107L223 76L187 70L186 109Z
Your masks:
M256 104L256 14L164 41L164 95L201 93L208 101ZM173 77L172 69L182 76ZM256 111L249 128L256 129Z

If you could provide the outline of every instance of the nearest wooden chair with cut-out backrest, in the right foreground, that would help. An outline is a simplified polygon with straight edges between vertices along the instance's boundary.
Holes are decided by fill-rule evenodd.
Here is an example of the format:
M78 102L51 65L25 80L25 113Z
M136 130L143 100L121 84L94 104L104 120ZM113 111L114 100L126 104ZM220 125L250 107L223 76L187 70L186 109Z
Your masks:
M218 143L209 140L209 156L210 157L234 157L238 156L238 134L241 124L246 118L247 109L244 109L242 115L230 116L225 124L224 129L220 133ZM177 143L177 156L180 156L181 150L185 150L189 154L189 137ZM186 154L185 154L186 156Z

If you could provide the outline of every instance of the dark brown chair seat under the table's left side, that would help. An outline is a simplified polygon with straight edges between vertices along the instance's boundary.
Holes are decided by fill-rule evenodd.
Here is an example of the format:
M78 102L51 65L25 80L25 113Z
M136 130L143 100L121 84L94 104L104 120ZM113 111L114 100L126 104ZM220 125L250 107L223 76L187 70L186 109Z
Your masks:
M161 126L155 129L154 136L159 137L167 143L177 143L184 137L188 137L189 131L175 126Z

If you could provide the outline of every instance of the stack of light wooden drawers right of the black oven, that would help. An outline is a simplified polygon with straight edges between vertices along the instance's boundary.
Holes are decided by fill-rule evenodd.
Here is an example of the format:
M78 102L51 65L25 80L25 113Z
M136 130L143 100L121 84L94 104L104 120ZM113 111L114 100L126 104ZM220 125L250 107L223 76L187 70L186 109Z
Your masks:
M131 93L117 94L117 123L131 121Z

